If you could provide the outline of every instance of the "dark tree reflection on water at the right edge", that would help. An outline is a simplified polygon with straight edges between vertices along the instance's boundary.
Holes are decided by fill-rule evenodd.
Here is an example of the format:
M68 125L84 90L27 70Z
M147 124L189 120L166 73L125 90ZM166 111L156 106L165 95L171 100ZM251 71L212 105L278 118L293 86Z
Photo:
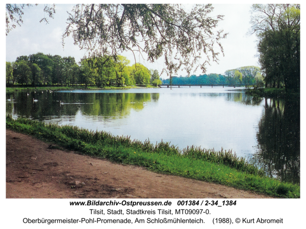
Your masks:
M300 182L300 104L293 99L265 99L255 160L267 174Z

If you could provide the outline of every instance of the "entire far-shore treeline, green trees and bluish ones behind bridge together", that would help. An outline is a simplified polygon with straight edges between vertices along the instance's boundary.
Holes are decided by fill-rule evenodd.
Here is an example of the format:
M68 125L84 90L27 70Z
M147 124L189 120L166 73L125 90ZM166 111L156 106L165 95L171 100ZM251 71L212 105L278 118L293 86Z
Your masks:
M160 79L157 70L147 69L142 64L130 66L123 56L82 59L37 53L17 57L15 62L6 62L6 84L11 85L59 85L59 86L131 86L160 84L257 84L263 85L260 68L246 66L227 70L222 74L191 75Z

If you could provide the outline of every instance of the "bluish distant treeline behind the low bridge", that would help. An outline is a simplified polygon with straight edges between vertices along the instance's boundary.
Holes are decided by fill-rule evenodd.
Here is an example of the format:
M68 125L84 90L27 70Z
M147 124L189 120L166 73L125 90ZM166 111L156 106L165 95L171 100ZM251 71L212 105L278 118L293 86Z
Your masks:
M263 85L263 77L260 73L260 68L256 66L246 66L237 69L226 70L224 75L222 74L203 74L203 75L191 75L190 77L172 77L170 79L163 80L163 84L174 85L199 85L199 84L250 84L250 85Z

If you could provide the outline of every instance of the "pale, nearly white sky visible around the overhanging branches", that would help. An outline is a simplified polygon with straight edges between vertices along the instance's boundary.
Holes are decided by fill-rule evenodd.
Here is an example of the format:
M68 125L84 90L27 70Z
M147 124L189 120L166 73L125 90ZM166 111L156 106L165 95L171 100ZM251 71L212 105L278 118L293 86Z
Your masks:
M54 19L50 18L48 24L39 22L42 17L47 16L43 12L44 4L26 9L21 27L17 26L6 36L6 61L13 62L19 56L29 56L40 52L62 57L71 56L79 62L85 51L75 46L71 37L66 38L65 45L62 46L62 34L68 17L67 11L70 11L72 6L57 4ZM186 5L186 8L188 7L190 5ZM206 73L223 74L229 69L250 65L260 66L256 57L256 36L247 35L251 26L249 24L251 4L213 4L213 7L212 16L224 15L224 20L219 22L217 29L223 29L228 35L227 38L221 40L224 57L221 54L218 63L211 62L211 65L207 66ZM131 61L131 65L134 63L131 54L122 55ZM163 59L149 63L139 57L137 62L142 63L148 69L157 69L159 72L165 67ZM201 70L191 72L196 75L202 73ZM177 75L186 76L187 72L179 71ZM165 74L161 77L168 78Z

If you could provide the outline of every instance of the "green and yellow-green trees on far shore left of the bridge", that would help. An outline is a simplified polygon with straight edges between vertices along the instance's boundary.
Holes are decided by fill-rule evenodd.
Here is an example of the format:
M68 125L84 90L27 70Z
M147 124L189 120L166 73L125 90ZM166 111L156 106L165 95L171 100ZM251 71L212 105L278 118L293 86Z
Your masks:
M6 62L6 84L98 87L162 84L157 70L129 64L123 56L95 57L77 63L73 57L37 53Z

